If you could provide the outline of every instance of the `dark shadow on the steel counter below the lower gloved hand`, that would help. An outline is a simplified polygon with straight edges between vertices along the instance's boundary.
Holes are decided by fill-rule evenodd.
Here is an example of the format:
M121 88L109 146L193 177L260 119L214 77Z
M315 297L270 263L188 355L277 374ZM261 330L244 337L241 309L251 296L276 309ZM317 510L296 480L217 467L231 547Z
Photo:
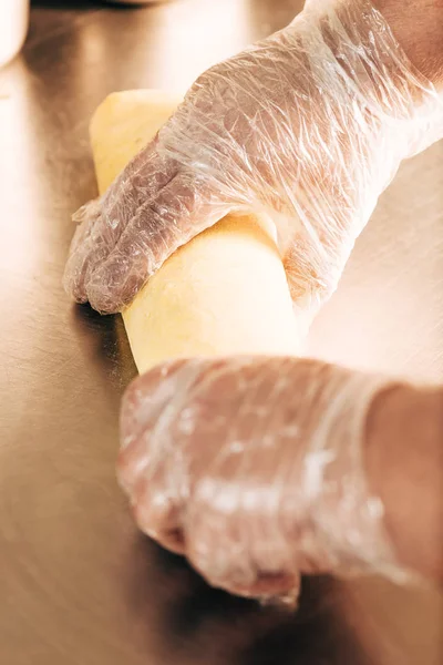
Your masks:
M297 610L262 606L209 587L175 554L135 535L127 606L145 617L169 665L369 665L339 611L329 577L305 579ZM153 598L155 615L153 616Z

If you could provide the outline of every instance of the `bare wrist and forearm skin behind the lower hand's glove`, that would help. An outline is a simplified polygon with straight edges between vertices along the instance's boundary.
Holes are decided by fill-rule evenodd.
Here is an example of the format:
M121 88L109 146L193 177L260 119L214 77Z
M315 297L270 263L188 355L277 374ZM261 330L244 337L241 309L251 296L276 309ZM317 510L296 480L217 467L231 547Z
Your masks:
M443 584L443 389L403 385L379 395L365 452L398 561Z

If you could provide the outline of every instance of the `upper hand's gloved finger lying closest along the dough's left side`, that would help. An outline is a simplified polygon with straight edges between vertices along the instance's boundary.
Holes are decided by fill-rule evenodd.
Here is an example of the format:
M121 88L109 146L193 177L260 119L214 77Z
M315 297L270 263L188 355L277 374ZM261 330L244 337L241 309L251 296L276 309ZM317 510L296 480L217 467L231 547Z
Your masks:
M193 173L177 173L135 211L112 252L86 275L91 305L112 313L128 305L178 247L226 215L229 206Z

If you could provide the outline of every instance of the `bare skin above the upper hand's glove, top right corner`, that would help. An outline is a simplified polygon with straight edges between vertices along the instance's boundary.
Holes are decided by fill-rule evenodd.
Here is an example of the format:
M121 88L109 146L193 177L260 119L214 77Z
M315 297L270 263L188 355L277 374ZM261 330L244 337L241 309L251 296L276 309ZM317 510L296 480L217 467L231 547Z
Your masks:
M412 64L443 91L443 0L372 0Z

